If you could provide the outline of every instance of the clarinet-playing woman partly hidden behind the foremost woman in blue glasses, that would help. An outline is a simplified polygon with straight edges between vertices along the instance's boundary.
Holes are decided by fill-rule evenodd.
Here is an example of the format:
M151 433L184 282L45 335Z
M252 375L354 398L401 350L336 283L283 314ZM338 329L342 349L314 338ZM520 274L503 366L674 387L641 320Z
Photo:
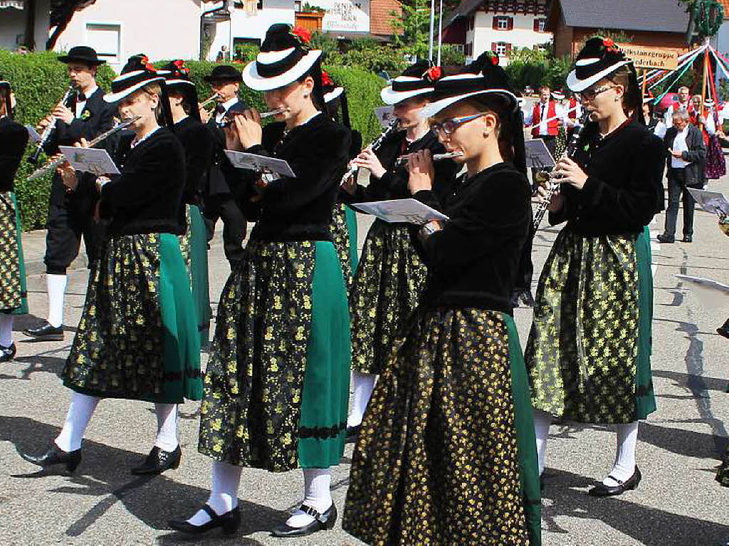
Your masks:
M445 152L422 109L429 103L433 83L442 74L427 61L408 67L381 92L385 104L394 105L398 129L376 150L365 148L351 165L370 171L370 184L362 187L352 176L345 183L352 203L410 197L408 168L397 159L419 150ZM458 170L452 160L436 163L434 191L446 195ZM410 225L375 219L364 240L362 256L349 295L352 328L353 397L347 420L348 436L359 432L375 379L382 373L398 332L420 301L427 270L410 240Z

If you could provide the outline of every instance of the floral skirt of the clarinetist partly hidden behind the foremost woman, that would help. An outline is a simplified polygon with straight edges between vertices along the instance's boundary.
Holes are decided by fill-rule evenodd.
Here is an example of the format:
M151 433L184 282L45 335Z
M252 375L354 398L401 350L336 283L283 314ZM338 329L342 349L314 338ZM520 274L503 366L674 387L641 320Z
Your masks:
M382 373L395 339L418 306L426 276L408 225L375 220L349 295L354 370Z

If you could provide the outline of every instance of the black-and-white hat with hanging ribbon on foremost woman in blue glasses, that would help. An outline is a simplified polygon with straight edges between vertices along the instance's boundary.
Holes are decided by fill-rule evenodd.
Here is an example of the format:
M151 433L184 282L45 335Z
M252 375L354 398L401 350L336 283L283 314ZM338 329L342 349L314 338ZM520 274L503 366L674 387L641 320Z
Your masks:
M475 61L464 66L460 74L437 80L433 93L434 100L422 109L421 116L432 117L459 101L483 95L496 98L501 105L499 108L501 122L508 128L508 138L514 149L513 164L526 174L526 152L519 98L512 90L506 72L499 66L499 58L490 52L482 53Z

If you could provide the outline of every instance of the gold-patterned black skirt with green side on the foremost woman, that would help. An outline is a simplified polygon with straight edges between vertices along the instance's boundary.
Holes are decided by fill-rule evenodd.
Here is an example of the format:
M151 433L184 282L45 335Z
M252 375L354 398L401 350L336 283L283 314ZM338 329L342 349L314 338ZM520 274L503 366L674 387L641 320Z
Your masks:
M343 529L370 545L539 545L518 333L482 309L419 310L354 451Z

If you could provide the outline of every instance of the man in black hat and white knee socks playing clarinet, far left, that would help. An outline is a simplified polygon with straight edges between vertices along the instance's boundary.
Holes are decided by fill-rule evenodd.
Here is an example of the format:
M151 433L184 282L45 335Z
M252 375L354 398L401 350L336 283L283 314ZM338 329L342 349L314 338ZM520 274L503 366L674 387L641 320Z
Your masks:
M41 120L39 132L54 122L55 130L45 147L48 155L58 153L58 146L72 146L83 139L93 139L114 125L114 107L104 102L104 91L96 85L96 69L106 61L99 60L91 47L72 47L58 61L66 63L69 79L75 89L66 104L58 104ZM53 177L48 210L46 283L48 319L37 327L26 329L26 335L44 340L63 340L63 298L66 294L66 268L79 254L83 237L89 262L93 262L100 243L100 227L93 219L95 203L66 192L61 177Z

